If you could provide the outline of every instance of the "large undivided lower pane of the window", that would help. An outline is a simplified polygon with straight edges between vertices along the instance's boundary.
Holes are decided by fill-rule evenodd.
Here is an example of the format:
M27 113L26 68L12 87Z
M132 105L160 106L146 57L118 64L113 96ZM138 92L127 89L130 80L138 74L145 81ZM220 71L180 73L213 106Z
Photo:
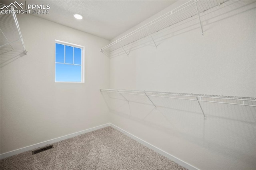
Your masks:
M81 66L58 64L55 65L55 81L81 82Z

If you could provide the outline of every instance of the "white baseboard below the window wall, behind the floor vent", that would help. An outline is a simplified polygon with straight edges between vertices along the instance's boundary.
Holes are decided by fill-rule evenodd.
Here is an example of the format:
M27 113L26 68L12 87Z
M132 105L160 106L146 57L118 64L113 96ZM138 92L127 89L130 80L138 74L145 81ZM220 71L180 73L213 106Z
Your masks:
M36 149L36 148L45 146L47 144L52 144L52 143L55 143L55 142L58 142L58 141L61 141L61 140L72 138L74 136L78 136L80 134L88 133L88 132L91 132L91 131L94 131L94 130L98 130L100 128L104 128L104 127L108 127L108 126L110 126L110 124L106 123L104 125L100 125L100 126L93 127L93 128L88 128L88 129L82 130L80 132L75 132L75 133L72 133L72 134L68 134L68 135L65 135L65 136L61 136L61 137L58 137L58 138L54 138L54 139L51 139L51 140L47 140L47 141L44 141L44 142L40 142L40 143L37 143L37 144L26 146L24 148L12 150L10 152L6 152L6 153L3 153L3 154L0 154L0 159L7 158L9 156L13 156L13 155L16 155L16 154L19 154L19 153L22 153L22 152L26 152L28 150Z

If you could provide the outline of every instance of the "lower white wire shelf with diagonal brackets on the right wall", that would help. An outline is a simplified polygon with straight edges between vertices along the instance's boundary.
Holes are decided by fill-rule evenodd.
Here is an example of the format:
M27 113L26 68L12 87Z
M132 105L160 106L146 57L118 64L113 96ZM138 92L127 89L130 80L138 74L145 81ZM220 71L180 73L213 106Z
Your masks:
M255 97L237 97L237 96L223 96L223 95L200 95L193 93L171 93L171 92L156 92L156 91L135 91L135 90L117 90L117 89L100 89L101 92L107 93L119 93L128 103L129 100L124 97L124 95L142 95L146 96L152 105L155 108L157 106L150 99L150 97L163 97L169 99L181 99L181 100L190 100L197 101L202 114L204 116L204 120L206 120L206 115L202 109L200 102L210 102L210 103L222 103L228 105L241 105L241 106L250 106L256 107L256 98Z

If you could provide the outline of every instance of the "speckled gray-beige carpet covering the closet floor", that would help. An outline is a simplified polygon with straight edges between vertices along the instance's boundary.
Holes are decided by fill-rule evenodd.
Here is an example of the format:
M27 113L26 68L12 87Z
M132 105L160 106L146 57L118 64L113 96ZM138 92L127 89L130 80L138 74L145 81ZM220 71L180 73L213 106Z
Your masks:
M112 127L1 160L1 170L186 170Z

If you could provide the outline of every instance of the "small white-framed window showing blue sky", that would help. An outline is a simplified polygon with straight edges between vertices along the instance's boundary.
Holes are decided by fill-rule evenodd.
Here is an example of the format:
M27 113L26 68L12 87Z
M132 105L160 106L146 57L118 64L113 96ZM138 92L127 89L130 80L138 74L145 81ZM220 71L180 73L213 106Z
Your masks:
M55 41L55 82L84 83L84 47Z

